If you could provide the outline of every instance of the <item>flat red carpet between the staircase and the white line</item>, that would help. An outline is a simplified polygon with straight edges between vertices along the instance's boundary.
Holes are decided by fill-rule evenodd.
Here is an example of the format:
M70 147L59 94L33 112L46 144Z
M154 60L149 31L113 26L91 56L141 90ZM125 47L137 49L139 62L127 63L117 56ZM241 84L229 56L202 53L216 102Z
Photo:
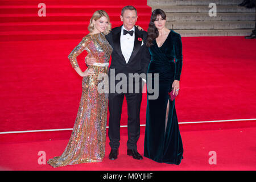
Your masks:
M1 131L73 127L82 78L67 56L79 42L0 43ZM243 37L183 38L184 64L176 99L179 122L256 118L255 46L255 40ZM84 56L85 52L78 57L82 69ZM127 125L125 104L121 125ZM146 96L141 124L145 112Z

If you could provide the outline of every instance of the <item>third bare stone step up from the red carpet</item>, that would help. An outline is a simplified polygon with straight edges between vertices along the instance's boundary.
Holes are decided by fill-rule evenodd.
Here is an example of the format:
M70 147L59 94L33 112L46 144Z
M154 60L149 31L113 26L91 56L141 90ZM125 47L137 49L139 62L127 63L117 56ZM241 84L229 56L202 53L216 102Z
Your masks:
M215 17L208 13L166 13L166 16L167 21L177 22L255 20L255 13L217 13Z

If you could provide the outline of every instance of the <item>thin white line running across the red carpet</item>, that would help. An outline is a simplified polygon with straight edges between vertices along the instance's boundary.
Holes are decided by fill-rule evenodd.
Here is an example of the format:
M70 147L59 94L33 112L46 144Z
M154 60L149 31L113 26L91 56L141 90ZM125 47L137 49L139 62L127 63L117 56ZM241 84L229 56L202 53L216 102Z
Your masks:
M256 118L253 118L253 119L229 119L229 120L216 120L216 121L179 122L179 125L180 124L194 124L194 123L230 122L230 121L256 121ZM141 125L141 126L146 126L146 125ZM127 127L127 125L121 125L120 127ZM107 126L107 128L108 128L108 126ZM42 132L42 131L67 131L67 130L73 130L73 129L5 131L5 132L0 132L0 134L32 133L32 132Z

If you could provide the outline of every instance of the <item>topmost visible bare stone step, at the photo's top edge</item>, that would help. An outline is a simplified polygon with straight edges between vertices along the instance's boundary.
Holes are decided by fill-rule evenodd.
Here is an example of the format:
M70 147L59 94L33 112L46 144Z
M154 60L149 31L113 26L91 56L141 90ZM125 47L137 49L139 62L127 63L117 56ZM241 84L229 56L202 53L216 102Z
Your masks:
M216 5L239 5L242 1L243 0L147 0L147 5L209 5L209 3L216 3Z

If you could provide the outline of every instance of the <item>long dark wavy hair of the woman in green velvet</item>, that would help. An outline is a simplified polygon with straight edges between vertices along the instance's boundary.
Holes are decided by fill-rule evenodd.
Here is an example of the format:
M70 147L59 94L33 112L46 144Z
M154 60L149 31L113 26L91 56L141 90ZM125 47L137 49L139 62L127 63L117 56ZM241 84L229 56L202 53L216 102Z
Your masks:
M163 19L166 19L166 14L164 13L163 10L156 9L152 12L151 18L150 18L150 24L148 25L148 28L147 28L147 43L146 43L147 47L152 46L153 40L155 40L155 38L159 36L158 28L156 28L154 24L156 17L158 15L162 16Z

